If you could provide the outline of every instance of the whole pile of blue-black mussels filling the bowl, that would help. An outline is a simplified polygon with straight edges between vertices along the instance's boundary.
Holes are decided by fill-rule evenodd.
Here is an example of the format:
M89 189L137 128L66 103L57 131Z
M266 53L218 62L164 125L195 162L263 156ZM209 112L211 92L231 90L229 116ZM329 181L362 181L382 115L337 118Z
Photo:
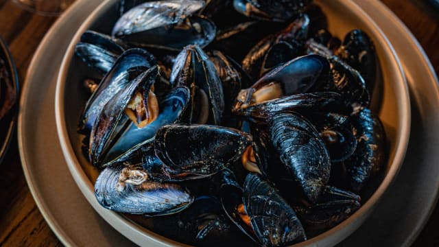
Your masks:
M163 234L189 244L262 246L304 241L359 209L356 193L385 163L364 32L332 36L311 0L118 11L110 36L87 31L75 47L102 75L85 80L79 132L102 169L103 207L161 215Z

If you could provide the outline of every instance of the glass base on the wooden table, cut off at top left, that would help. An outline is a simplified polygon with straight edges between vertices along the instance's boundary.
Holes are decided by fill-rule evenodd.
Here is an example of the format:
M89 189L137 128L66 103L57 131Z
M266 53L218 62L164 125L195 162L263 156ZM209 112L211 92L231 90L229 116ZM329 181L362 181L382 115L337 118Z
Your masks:
M75 0L12 0L25 10L45 16L60 15Z

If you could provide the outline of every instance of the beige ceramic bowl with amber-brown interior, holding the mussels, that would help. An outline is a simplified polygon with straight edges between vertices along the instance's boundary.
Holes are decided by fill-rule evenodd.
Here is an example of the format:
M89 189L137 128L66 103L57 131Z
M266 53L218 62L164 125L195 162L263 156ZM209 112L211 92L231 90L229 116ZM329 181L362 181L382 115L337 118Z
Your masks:
M384 192L391 185L401 167L410 134L410 99L401 64L392 45L379 27L361 8L351 1L315 1L327 14L329 31L344 37L348 31L359 28L372 38L381 64L381 91L374 94L372 110L383 122L388 139L388 163L382 176L374 180L364 194L363 205L347 220L297 246L333 246L353 233L377 206ZM78 29L62 60L56 86L56 126L64 158L69 170L95 211L122 235L141 246L174 246L180 243L158 235L129 220L122 214L104 209L94 195L93 182L98 175L95 168L82 154L82 136L77 133L78 121L87 97L83 93L82 80L90 76L88 69L74 56L75 44L86 30L109 34L117 21L117 1L104 1Z

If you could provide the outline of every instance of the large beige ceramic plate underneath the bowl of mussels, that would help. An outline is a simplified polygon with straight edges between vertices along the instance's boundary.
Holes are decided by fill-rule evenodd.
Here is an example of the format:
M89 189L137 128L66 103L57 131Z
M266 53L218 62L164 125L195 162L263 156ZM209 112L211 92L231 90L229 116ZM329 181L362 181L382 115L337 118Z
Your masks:
M406 161L390 188L393 193L381 200L372 217L342 245L352 246L354 242L357 246L370 242L392 246L410 244L434 209L439 188L439 167L436 166L439 154L435 150L439 137L430 134L439 126L439 115L430 115L439 109L437 80L416 40L389 10L375 1L356 2L385 30L396 51L403 55L401 61L412 93L413 124ZM98 3L99 0L77 1L51 28L30 64L21 100L23 110L19 115L19 146L27 183L49 226L66 245L129 244L95 213L75 186L62 158L55 129L54 90L58 68L53 64L60 64L73 33ZM39 67L50 70L43 72ZM52 76L41 76L43 73ZM414 78L423 80L414 81ZM29 121L34 122L29 124ZM47 143L50 144L47 146ZM429 148L418 148L426 146ZM47 150L49 155L45 155ZM417 160L420 151L423 159ZM359 242L359 239L368 241Z

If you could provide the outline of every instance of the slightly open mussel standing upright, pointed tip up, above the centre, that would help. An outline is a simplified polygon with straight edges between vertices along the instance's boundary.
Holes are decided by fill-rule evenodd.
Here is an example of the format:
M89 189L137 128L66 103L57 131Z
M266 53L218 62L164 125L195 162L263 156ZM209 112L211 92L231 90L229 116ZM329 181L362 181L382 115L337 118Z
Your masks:
M215 65L198 45L188 45L178 54L170 82L191 91L184 117L187 123L221 124L225 104L222 82Z

